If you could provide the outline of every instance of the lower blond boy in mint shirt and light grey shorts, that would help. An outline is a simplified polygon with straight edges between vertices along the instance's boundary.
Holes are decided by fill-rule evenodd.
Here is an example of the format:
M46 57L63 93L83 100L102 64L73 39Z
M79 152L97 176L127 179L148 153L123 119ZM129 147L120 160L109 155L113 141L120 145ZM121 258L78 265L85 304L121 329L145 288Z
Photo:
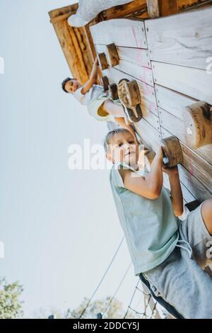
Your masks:
M212 318L212 273L204 271L212 262L206 256L212 244L212 199L182 221L178 169L163 165L162 147L148 171L139 169L139 146L128 130L107 133L104 145L113 163L110 184L135 275L176 317ZM171 191L163 186L163 171Z

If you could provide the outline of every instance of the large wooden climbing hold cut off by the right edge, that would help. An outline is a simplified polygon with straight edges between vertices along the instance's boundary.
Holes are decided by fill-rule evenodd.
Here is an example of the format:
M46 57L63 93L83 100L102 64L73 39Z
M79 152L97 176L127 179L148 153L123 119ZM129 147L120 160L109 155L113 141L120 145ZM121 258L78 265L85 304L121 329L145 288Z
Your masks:
M200 101L187 106L182 115L189 147L196 149L212 143L211 106Z

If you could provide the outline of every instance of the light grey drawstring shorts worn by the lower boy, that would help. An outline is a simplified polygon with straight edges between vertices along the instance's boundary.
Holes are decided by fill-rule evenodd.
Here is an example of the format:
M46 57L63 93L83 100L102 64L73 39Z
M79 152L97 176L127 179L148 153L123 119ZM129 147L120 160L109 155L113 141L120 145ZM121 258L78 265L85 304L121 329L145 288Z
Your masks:
M172 254L143 273L153 293L187 319L212 318L212 237L201 215L202 204L179 222L179 242Z

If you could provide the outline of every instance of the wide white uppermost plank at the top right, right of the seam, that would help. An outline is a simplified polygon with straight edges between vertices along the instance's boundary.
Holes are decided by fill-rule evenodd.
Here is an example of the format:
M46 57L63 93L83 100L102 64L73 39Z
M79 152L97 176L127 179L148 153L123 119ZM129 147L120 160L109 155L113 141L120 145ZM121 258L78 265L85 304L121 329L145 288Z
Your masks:
M212 8L145 23L151 60L206 69L212 55Z

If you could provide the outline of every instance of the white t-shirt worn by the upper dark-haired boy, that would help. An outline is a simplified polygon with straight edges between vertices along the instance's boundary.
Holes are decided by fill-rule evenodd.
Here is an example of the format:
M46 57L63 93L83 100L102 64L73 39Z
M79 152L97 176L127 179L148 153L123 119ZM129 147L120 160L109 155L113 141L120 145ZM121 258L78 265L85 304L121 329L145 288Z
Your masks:
M95 98L106 96L107 93L105 93L102 86L99 84L93 84L93 86L90 88L90 90L86 94L82 94L83 87L81 86L78 88L74 93L73 96L83 105L88 106L88 104L93 101Z

